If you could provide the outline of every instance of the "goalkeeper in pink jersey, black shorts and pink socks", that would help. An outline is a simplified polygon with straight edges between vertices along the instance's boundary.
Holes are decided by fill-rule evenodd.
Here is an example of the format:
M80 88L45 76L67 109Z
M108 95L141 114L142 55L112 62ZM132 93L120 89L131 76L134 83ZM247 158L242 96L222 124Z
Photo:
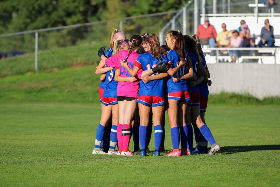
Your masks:
M101 59L106 65L116 68L116 77L120 73L118 78L121 80L119 80L120 82L118 83L117 88L117 100L119 102L119 124L117 128L117 137L119 145L118 155L121 154L124 156L133 155L133 153L128 150L130 123L137 105L136 101L139 93L140 79L132 77L121 65L121 60L127 60L129 67L133 69L134 63L139 55L136 51L142 44L141 36L133 35L129 44L129 50L120 51L111 58L106 59L106 57L101 54Z

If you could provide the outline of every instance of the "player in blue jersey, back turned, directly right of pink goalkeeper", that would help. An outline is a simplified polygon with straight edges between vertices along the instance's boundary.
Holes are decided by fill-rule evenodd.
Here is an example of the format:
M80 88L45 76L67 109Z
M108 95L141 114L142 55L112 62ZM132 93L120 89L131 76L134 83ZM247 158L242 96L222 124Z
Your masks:
M136 74L139 70L152 70L156 65L163 62L168 62L166 57L166 52L161 50L160 42L156 34L149 35L146 40L147 43L147 53L141 54L136 60L136 64L132 69L130 69L127 64L124 67L128 70L132 76ZM165 53L165 55L164 55ZM169 67L167 66L168 70ZM147 127L149 124L149 114L152 107L153 113L153 123L155 128L155 152L154 156L160 156L160 145L162 137L162 127L161 119L164 110L164 103L166 103L164 98L164 79L168 76L167 73L161 73L160 75L154 76L156 74L151 74L148 78L144 77L140 81L139 97L137 99L139 114L140 114L140 127L139 127L139 137L141 144L141 156L146 156L147 149Z

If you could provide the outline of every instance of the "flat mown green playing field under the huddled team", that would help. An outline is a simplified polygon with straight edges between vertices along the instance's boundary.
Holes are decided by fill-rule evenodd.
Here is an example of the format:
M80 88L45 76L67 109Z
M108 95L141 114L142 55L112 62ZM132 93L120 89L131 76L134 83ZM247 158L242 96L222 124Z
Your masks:
M124 157L91 154L100 103L2 102L0 186L278 186L279 112L210 105L207 123L221 153Z

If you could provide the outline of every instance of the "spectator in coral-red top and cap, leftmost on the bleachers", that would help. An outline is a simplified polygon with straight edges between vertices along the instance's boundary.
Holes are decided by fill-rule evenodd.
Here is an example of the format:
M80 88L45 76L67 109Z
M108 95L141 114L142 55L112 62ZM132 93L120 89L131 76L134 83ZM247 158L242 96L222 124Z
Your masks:
M202 44L213 47L215 45L215 38L217 36L216 29L213 25L210 25L209 19L206 18L204 24L200 24L197 28L196 34L199 36Z

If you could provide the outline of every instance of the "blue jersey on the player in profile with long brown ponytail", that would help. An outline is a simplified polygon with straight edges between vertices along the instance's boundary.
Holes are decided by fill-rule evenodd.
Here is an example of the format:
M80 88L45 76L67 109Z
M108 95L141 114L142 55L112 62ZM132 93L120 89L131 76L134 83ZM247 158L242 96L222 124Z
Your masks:
M170 61L170 65L172 64L172 68L175 68L179 65L180 59L178 54L174 49L167 52L168 59ZM185 73L185 68L188 67L188 63L181 67L175 76L183 76ZM173 76L169 77L167 80L167 91L168 93L178 92L178 91L186 91L188 90L187 80L180 80L179 82L174 82L172 79Z

